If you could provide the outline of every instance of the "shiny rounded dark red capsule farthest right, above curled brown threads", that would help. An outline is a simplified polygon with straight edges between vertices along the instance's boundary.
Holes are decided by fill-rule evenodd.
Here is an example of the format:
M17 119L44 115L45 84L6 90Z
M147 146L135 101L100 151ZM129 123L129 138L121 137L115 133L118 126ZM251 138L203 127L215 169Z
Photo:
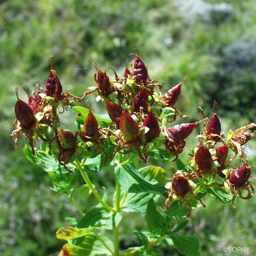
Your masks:
M251 175L251 169L246 165L240 165L230 170L229 182L235 187L240 187L245 184Z

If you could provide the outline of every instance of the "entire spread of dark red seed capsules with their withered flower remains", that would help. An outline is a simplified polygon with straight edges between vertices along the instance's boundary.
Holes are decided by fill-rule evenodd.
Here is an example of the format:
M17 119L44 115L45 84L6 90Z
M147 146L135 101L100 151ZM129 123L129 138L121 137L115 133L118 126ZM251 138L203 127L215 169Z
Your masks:
M202 203L195 193L197 184L199 184L198 180L215 176L223 179L220 186L228 184L233 200L237 193L241 198L250 198L253 195L253 187L248 179L251 176L252 166L247 163L244 146L254 136L250 129L256 127L256 124L251 123L234 132L230 131L225 138L221 132L221 123L215 112L214 103L214 111L208 123L201 109L203 115L201 121L166 127L166 123L174 121L177 116L185 118L175 106L181 94L184 79L177 86L162 94L161 84L150 78L137 51L134 55L135 60L132 61L130 69L126 67L122 77L119 77L112 69L115 74L114 79L106 74L106 70L101 71L95 63L97 72L94 74L94 79L97 86L91 91L84 92L82 97L68 92L62 93L62 86L53 69L52 59L45 89L38 87L34 96L31 96L24 88L29 96L28 103L19 99L16 88L14 124L17 127L12 133L15 137L15 147L22 133L27 136L33 154L35 154L35 139L49 142L50 152L51 144L55 142L58 148L57 160L70 173L72 171L66 165L78 148L87 152L90 152L92 147L96 151L101 150L104 161L108 160L103 146L105 142L115 145L112 157L117 152L123 154L137 152L142 161L146 163L147 151L159 146L165 147L172 153L175 161L184 150L185 139L199 123L203 122L203 132L197 137L199 146L190 161L193 171L186 173L185 170L178 170L174 173L172 182L166 184L168 189L166 208L168 209L168 204L176 197L187 204L189 215L191 206L187 198L195 196ZM63 129L58 114L72 108L74 101L82 101L91 93L98 95L96 99L102 101L112 123L108 127L100 127L90 108L79 131L73 134ZM172 115L162 118L161 114L166 110L172 111ZM49 129L53 131L51 136L47 133ZM222 145L219 145L220 143ZM227 159L228 151L233 152L230 159ZM243 165L229 168L231 161L237 155ZM243 190L248 191L247 196L243 196Z

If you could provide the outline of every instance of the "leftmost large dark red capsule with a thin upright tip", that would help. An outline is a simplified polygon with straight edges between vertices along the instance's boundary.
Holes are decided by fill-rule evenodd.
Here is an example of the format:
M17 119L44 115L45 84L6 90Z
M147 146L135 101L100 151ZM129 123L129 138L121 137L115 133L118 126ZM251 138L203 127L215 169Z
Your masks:
M17 95L17 101L15 103L15 115L20 125L25 129L31 129L36 123L36 118L34 116L32 108L23 100L18 97L18 87L15 88Z

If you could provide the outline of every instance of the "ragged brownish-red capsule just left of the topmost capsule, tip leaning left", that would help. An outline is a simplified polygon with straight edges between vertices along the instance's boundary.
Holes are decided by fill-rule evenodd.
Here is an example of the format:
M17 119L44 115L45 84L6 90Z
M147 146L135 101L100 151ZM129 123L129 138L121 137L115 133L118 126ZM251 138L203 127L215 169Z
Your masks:
M96 63L94 63L94 66L98 71L98 73L94 75L94 80L98 84L101 95L104 97L108 97L112 92L114 92L113 84L110 81L109 76L106 74L106 71L102 72L101 70L99 70Z

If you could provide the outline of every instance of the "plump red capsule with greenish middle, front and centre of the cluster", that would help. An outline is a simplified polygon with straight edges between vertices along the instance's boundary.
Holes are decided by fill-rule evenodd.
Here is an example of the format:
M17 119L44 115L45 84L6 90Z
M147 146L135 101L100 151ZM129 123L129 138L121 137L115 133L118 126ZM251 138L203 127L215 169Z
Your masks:
M127 142L134 142L138 139L140 132L138 123L136 123L133 118L124 111L120 117L119 127L123 138Z

